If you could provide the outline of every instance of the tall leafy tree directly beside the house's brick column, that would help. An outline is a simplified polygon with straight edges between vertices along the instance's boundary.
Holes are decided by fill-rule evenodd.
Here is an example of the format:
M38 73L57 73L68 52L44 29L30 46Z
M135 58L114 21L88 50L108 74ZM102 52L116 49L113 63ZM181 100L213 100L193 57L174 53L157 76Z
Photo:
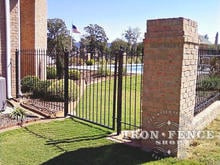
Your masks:
M64 74L64 51L72 47L72 37L62 19L54 18L47 21L48 53L56 58L57 77L61 79Z

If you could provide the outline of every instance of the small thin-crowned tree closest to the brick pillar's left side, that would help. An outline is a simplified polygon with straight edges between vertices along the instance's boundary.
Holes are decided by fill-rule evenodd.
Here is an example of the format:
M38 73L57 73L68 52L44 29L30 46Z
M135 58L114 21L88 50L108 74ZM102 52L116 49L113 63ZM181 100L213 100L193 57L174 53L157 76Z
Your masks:
M128 42L128 48L129 48L128 53L130 55L136 54L137 41L140 37L140 34L141 33L139 28L131 28L131 27L129 27L128 30L126 30L125 33L123 34L123 36Z

